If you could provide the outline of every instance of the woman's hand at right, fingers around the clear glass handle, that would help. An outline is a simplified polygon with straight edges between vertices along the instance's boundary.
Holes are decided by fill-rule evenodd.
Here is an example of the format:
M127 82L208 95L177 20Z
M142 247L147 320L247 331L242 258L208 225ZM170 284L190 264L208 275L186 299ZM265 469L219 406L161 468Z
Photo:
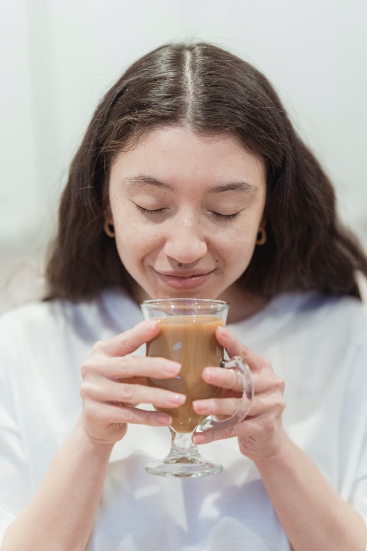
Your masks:
M255 396L245 419L228 429L205 430L195 434L195 444L238 436L240 452L257 462L280 453L285 440L282 413L284 381L278 377L268 359L252 352L223 327L218 327L217 341L227 350L229 358L242 356L253 375ZM202 415L233 415L238 408L242 386L237 374L231 369L205 368L202 378L211 385L224 389L224 397L196 400L193 408Z

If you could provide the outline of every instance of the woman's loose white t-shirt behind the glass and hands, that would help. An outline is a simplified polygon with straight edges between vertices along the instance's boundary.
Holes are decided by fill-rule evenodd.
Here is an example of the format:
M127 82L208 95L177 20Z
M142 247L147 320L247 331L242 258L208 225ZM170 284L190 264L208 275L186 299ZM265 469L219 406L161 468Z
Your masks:
M123 293L54 300L0 320L0 542L79 416L80 366L92 345L142 320ZM367 517L367 317L351 298L284 294L228 326L286 381L284 428L343 499ZM144 354L142 347L136 353ZM200 446L221 474L147 474L167 428L130 425L113 449L88 551L286 551L286 535L237 439ZM68 507L68 503L65 503ZM315 518L317 523L317 518Z

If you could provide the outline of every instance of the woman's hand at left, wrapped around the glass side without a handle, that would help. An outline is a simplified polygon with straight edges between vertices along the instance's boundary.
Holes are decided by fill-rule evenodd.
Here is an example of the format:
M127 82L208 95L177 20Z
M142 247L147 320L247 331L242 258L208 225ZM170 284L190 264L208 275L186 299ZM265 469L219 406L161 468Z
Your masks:
M177 392L146 386L147 377L170 379L180 364L166 358L130 356L140 345L151 341L159 331L154 320L94 345L92 355L81 367L83 382L83 429L96 444L112 445L121 440L128 423L168 426L171 415L145 411L136 404L151 403L162 408L179 407L185 396Z

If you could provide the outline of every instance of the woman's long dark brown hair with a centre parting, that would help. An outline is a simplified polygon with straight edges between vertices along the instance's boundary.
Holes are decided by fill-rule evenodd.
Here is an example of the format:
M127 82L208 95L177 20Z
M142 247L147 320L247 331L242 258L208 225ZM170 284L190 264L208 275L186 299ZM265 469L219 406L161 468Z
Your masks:
M210 44L162 46L136 61L97 107L70 168L47 266L48 296L73 301L133 280L103 231L115 156L159 126L229 133L267 168L267 241L240 283L273 296L319 290L359 296L367 274L357 239L338 222L333 187L280 99L249 63Z

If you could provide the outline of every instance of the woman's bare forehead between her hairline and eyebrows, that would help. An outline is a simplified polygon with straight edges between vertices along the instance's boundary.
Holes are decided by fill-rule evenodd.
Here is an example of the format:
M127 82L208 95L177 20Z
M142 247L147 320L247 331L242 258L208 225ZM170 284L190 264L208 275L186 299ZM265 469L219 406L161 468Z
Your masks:
M265 163L234 136L202 135L187 126L161 127L144 134L128 151L120 152L111 167L112 179L140 173L172 183L265 182Z

